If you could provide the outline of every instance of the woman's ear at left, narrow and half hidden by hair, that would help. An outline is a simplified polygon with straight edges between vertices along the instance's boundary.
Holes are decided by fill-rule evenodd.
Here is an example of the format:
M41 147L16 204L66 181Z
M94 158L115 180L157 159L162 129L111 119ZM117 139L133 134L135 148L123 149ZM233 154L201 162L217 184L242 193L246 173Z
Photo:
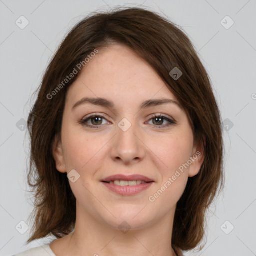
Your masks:
M59 135L56 135L52 144L52 154L56 163L56 169L59 172L65 173L66 166L63 156L63 148Z

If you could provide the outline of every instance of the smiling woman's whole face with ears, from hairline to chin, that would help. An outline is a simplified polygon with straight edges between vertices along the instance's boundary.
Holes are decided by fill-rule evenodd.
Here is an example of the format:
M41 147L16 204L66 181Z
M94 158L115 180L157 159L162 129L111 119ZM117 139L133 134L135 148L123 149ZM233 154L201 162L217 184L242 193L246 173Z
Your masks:
M158 99L173 102L142 105ZM188 177L203 162L177 98L151 66L122 45L99 50L69 87L61 140L53 151L58 171L72 176L79 214L115 228L125 220L139 229L173 215ZM151 182L128 189L127 181L102 181L116 174L143 175Z

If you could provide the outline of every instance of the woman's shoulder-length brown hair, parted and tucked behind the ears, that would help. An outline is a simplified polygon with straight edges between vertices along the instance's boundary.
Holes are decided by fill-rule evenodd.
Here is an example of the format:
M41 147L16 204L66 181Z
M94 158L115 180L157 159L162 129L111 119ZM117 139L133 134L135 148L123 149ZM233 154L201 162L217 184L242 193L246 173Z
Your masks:
M52 146L60 134L67 89L80 70L66 85L63 80L95 48L112 43L128 46L156 70L185 109L194 141L203 148L201 169L188 178L177 203L171 241L176 249L192 249L202 240L205 211L223 185L220 112L208 74L182 28L142 8L91 13L67 34L45 71L27 121L31 138L27 179L35 193L33 233L27 243L49 234L61 238L73 231L75 197L66 173L55 167ZM174 67L182 71L177 80L169 74Z

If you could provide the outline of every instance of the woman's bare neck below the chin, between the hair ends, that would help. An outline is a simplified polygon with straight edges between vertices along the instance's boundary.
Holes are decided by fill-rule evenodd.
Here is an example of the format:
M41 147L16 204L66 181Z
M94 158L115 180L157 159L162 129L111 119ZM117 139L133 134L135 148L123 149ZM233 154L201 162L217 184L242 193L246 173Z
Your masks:
M77 205L75 230L64 237L64 251L94 256L175 256L171 247L174 212L175 209L144 227L129 229L127 222L121 221L119 228L114 227L82 212Z

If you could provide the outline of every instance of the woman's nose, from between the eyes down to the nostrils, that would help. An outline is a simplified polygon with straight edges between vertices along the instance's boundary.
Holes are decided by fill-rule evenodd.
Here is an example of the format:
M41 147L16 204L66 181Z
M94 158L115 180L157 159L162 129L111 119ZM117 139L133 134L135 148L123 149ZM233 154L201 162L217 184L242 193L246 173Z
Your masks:
M135 121L131 123L130 120L123 118L118 123L111 146L112 159L125 165L137 163L145 155L142 133Z

